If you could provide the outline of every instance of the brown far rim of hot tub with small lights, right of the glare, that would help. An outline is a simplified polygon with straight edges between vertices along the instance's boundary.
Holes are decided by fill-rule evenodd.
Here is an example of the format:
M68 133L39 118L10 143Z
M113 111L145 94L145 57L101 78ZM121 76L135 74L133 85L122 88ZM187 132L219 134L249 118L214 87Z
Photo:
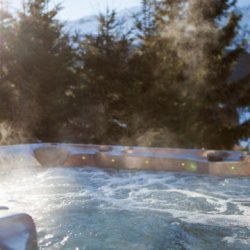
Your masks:
M240 151L43 144L34 149L34 157L42 166L93 166L250 176L249 152ZM47 164L45 159L50 159Z

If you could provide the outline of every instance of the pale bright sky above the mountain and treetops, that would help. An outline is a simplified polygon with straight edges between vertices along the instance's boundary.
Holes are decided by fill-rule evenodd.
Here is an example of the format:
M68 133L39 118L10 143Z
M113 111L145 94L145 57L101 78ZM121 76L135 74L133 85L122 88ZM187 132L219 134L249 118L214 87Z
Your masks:
M205 0L206 1L206 0ZM21 6L22 0L9 0L13 9ZM117 11L138 6L141 0L52 0L54 4L62 3L64 7L59 14L62 20L76 20L88 15L96 15L105 11L106 7ZM238 0L239 6L250 5L249 0Z

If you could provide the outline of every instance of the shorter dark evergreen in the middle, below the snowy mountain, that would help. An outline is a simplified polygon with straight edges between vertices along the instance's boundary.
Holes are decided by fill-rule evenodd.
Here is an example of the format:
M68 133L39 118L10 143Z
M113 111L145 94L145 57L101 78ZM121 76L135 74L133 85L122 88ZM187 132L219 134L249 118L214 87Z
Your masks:
M131 44L121 32L115 11L101 14L98 22L98 33L86 35L81 42L83 84L82 91L77 90L77 106L85 107L78 111L85 140L114 144L126 133L123 123L127 123L132 91L128 71Z

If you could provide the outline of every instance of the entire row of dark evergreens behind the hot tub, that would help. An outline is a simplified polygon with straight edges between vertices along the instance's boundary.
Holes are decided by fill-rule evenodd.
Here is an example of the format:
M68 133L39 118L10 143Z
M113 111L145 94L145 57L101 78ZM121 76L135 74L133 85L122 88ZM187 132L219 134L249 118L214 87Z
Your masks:
M71 34L48 0L0 1L0 141L232 148L250 135L235 4L142 0L129 30L107 11Z

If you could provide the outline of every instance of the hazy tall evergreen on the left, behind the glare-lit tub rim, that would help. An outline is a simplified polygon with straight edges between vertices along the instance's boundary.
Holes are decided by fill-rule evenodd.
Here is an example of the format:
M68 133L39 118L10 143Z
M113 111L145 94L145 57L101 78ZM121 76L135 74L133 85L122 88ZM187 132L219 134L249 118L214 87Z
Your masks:
M56 20L60 7L48 6L47 0L29 0L19 13L13 75L19 120L34 138L54 141L70 116L71 88L76 79L74 50Z

